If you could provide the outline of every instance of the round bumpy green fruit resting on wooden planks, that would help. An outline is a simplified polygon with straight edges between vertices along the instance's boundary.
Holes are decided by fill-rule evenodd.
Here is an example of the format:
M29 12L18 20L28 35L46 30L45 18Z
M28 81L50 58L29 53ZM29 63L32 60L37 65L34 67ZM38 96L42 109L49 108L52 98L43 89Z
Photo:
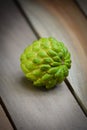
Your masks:
M63 42L40 38L25 48L20 62L25 76L35 86L50 89L68 76L71 56Z

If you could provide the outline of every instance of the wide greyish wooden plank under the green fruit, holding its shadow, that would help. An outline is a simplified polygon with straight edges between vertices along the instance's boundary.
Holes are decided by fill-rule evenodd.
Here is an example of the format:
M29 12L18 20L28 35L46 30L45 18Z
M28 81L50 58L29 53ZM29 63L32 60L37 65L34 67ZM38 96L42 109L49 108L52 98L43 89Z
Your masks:
M0 2L0 96L16 128L87 130L87 119L64 82L41 91L24 78L19 56L36 37L12 0Z

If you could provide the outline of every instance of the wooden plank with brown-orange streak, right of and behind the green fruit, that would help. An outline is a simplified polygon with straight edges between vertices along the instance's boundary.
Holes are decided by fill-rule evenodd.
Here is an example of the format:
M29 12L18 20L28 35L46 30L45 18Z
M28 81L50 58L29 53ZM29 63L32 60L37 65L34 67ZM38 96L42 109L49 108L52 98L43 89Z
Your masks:
M18 0L40 37L53 36L71 52L68 77L73 93L87 114L87 20L72 0Z

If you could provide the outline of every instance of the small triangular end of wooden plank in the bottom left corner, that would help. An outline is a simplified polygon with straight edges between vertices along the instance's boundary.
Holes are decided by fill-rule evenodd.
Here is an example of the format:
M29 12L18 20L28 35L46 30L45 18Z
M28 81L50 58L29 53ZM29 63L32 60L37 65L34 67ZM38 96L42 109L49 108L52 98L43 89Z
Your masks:
M0 130L13 130L1 105L0 105Z

